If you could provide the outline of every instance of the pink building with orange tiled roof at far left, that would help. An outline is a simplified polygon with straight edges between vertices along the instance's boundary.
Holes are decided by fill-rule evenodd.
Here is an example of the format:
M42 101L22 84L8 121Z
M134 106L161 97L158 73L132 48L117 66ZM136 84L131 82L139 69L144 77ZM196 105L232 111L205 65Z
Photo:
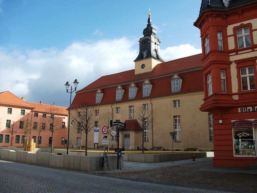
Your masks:
M67 139L68 111L67 107L58 107L47 104L25 102L25 97L21 99L9 91L0 93L0 145L1 146L23 146L24 143L24 127L26 125L25 117L29 132L28 139L33 138L40 147L64 147L65 139ZM54 115L50 115L52 113ZM58 128L53 133L49 131L51 124L49 120L55 116L58 119ZM50 118L51 117L51 118ZM48 119L49 118L49 119ZM56 123L54 123L56 124ZM11 135L11 131L15 131ZM40 135L39 135L40 131Z

